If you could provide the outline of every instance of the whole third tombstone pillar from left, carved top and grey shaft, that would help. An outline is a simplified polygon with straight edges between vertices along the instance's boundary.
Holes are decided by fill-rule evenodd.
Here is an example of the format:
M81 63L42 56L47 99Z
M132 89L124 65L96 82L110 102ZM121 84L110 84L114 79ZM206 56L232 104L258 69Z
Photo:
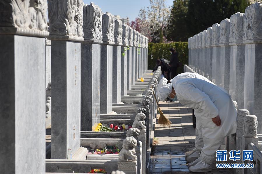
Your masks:
M102 10L94 3L83 8L81 43L81 131L94 131L100 122L100 52Z

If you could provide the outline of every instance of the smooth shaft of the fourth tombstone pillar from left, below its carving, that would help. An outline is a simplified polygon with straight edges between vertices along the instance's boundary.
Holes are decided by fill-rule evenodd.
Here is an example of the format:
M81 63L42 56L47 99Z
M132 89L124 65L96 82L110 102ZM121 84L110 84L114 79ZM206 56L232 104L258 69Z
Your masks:
M112 45L101 45L100 62L100 113L109 114L112 112Z

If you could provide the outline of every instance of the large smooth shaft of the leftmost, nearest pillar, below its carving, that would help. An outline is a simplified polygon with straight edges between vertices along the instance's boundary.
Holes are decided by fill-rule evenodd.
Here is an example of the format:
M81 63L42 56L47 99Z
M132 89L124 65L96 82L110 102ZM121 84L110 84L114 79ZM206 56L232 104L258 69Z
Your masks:
M45 38L0 35L0 48L0 173L45 173Z

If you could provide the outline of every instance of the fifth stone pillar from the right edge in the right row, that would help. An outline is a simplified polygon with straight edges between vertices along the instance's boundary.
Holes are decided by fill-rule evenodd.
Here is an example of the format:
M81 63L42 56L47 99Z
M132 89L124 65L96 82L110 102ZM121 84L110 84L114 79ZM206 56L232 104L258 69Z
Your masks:
M212 81L212 52L213 52L213 48L212 48L212 32L213 29L212 27L208 27L207 29L207 36L206 36L206 49L207 49L207 55L206 55L206 64L205 66L206 68L206 77Z

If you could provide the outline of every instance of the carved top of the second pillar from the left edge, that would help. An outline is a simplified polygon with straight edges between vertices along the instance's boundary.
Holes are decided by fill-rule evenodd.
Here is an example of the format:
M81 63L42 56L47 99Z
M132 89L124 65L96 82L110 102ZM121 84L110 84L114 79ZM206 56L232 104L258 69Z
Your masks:
M48 0L50 35L82 38L84 36L83 6L82 0Z

